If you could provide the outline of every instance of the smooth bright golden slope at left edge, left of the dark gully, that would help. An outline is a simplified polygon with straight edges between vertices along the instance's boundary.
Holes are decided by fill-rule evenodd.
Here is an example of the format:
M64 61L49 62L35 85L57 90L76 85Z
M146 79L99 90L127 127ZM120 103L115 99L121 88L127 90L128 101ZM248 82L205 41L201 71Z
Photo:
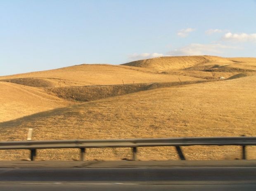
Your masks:
M70 102L48 95L43 89L0 82L0 122L64 107Z

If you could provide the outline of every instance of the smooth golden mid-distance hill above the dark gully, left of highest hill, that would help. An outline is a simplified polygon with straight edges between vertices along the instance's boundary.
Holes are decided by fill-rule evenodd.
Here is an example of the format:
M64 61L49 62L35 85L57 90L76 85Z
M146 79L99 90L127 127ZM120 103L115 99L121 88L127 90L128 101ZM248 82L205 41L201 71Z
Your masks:
M4 76L0 77L0 80L18 78L51 80L55 86L59 86L59 79L61 79L61 86L113 85L123 84L123 82L125 84L173 82L179 80L178 76L139 72L125 67L102 64L76 65L56 70ZM184 81L198 80L187 76L182 76L181 78Z

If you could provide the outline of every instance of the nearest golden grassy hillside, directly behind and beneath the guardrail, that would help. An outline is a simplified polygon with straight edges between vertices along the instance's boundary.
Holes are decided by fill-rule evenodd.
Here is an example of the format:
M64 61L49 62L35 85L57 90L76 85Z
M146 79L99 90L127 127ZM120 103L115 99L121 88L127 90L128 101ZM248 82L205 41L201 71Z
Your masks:
M0 139L26 140L28 128L33 128L33 140L256 136L255 83L256 76L249 76L143 91L54 109L0 123ZM235 146L193 146L184 151L190 160L241 158L241 149ZM253 147L248 152L249 158L256 158ZM88 149L88 154L88 160L131 158L129 148ZM0 156L22 159L28 153L1 151ZM76 149L38 152L39 160L77 160L78 156ZM170 147L139 148L138 156L141 160L177 159Z

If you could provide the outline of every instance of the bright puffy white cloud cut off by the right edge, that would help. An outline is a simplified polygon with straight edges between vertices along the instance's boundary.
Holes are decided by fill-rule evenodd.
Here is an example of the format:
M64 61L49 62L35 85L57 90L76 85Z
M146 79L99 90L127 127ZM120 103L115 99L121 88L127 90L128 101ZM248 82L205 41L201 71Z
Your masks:
M230 41L239 41L239 42L248 42L248 41L252 41L252 42L256 42L256 33L254 34L246 34L246 33L226 33L225 35L223 35L221 37L220 40L230 40Z

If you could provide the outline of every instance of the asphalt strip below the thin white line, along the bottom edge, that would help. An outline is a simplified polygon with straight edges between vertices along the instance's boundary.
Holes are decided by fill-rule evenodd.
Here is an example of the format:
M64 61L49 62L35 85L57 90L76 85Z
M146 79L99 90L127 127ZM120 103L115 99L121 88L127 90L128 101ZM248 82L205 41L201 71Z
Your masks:
M254 185L232 184L30 184L0 185L1 191L255 191Z

